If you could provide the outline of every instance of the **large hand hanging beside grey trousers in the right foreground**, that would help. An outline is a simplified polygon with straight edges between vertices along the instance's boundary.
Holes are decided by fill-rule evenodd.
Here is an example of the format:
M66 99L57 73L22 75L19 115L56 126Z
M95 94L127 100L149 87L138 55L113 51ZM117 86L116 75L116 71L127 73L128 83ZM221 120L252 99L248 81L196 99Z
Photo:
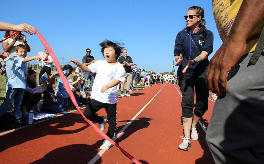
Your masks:
M247 43L226 40L211 58L206 72L206 87L217 95L221 94L220 86L227 91L227 77L232 67L238 62L245 52Z

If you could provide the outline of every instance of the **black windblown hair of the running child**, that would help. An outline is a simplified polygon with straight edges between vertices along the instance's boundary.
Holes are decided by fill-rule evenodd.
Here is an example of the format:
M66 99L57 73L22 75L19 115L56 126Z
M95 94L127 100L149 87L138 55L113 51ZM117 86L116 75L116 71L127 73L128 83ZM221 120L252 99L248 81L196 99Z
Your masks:
M102 49L101 49L101 53L104 55L104 49L108 48L108 47L113 47L113 49L115 50L115 59L117 61L118 57L120 57L121 53L123 53L123 49L124 47L121 47L122 43L117 43L117 42L111 42L110 40L104 40L102 43L99 44Z

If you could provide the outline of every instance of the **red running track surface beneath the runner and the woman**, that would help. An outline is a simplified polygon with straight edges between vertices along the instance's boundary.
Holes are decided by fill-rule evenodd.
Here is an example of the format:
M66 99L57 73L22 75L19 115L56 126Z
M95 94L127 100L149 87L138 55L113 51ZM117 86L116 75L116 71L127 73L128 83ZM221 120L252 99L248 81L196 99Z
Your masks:
M214 163L205 142L205 131L199 125L199 139L191 141L189 151L177 149L183 135L181 96L177 89L178 85L158 84L131 92L131 98L119 98L116 132L126 124L129 126L116 142L142 163ZM209 100L209 109L201 119L205 128L213 105ZM106 113L102 109L98 115ZM0 134L0 163L133 163L116 147L100 151L102 142L102 137L74 111ZM96 160L98 153L101 156Z

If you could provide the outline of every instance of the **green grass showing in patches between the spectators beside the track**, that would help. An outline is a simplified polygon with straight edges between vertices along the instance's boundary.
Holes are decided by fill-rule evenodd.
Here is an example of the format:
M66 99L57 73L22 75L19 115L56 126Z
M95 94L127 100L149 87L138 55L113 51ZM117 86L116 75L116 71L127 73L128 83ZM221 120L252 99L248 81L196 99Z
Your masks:
M39 84L39 72L40 72L40 70L35 70L36 72L37 72L37 79L36 79L36 81L37 81L37 84ZM54 73L53 71L51 72L51 73ZM45 73L46 74L46 73ZM82 74L81 74L82 75ZM82 75L83 76L83 75ZM71 79L71 77L72 77L72 74L68 77L68 79ZM57 78L57 80L58 80L59 78ZM90 83L90 81L89 81L89 83ZM55 85L53 85L53 90L54 90L54 92L55 92L55 90L56 90L56 86L57 86L57 82L55 83ZM139 89L142 89L142 88L144 88L145 86L137 86L136 88L134 88L133 90L139 90ZM125 84L125 86L124 86L124 88L126 88L126 84ZM118 93L117 93L117 95L121 95L121 91L119 91ZM2 104L3 103L3 101L4 101L4 99L5 99L5 96L6 96L6 77L5 76L3 76L3 75L0 75L0 104ZM41 98L41 100L40 100L41 102L43 101L43 94L42 94L42 98Z

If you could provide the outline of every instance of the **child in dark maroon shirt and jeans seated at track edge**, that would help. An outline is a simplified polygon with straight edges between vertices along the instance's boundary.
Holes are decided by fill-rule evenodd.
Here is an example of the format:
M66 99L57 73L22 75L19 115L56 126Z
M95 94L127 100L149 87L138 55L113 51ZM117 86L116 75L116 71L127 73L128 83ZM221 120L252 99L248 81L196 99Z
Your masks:
M57 72L53 74L48 74L48 86L47 89L43 92L43 105L42 108L48 111L52 112L63 112L66 110L64 107L60 108L59 107L59 98L54 95L54 90L53 90L53 84L55 84L55 79Z

